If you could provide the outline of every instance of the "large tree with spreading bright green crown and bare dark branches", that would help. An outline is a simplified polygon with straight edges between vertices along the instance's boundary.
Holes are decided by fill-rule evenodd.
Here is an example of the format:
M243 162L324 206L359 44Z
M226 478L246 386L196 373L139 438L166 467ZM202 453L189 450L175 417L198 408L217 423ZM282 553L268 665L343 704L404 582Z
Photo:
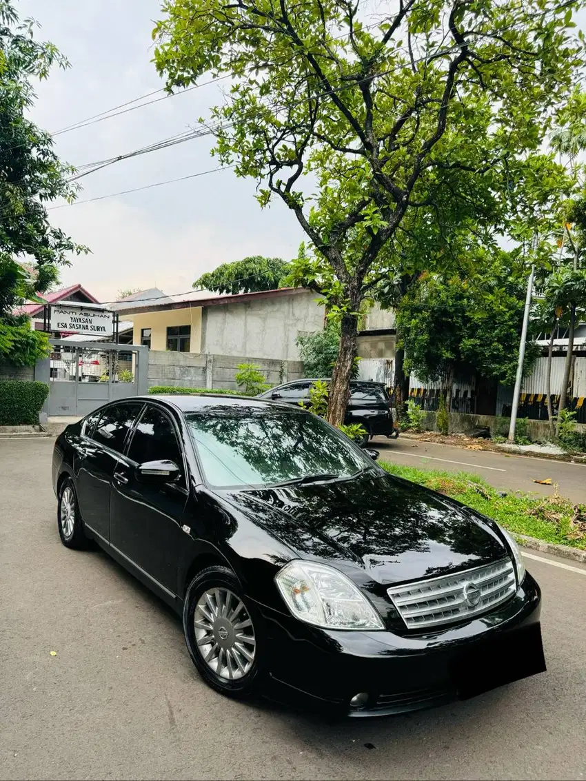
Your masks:
M212 110L214 152L309 237L289 279L341 323L328 408L341 423L360 304L395 278L402 241L423 225L444 247L466 223L502 230L527 172L548 179L540 144L582 62L572 9L402 0L369 20L360 0L166 0L163 13L153 36L167 87L233 77Z

